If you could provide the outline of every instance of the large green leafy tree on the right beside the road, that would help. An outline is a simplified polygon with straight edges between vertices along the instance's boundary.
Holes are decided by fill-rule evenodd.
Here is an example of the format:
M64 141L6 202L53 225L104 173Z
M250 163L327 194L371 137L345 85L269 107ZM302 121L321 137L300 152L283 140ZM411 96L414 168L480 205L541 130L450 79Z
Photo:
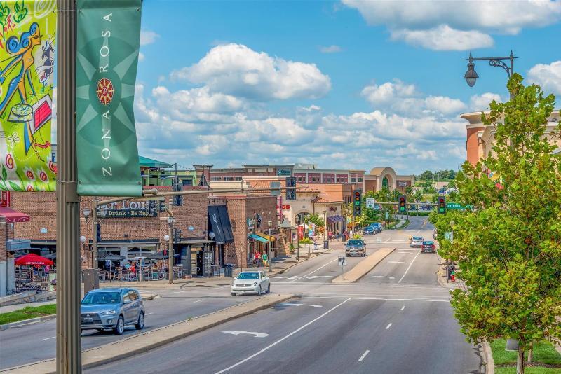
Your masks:
M492 102L492 153L457 175L459 198L473 212L433 214L440 254L459 263L465 289L452 293L461 330L471 342L518 340L517 373L532 341L561 338L561 155L546 132L555 97L522 76L508 81L511 100ZM489 179L487 171L499 180ZM444 239L454 221L454 242Z

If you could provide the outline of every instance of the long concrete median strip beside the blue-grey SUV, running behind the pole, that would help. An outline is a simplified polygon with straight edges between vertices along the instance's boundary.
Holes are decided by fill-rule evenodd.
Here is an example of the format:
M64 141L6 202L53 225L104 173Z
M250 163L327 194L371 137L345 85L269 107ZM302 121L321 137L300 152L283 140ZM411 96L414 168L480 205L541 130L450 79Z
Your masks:
M116 342L111 342L100 347L95 347L91 349L86 349L82 351L82 368L89 369L95 368L96 366L104 365L106 363L111 363L114 361L120 361L131 356L136 356L137 354L142 354L154 349L167 345L170 342L175 342L182 338L186 338L189 335L194 335L201 331L205 331L208 328L224 324L225 322L237 319L239 317L246 316L248 314L253 314L258 310L263 310L269 308L277 303L283 303L290 298L293 298L293 294L284 295L269 295L262 298L257 298L255 300L248 301L246 303L241 303L231 307L218 310L217 312L212 312L209 314L204 314L202 316L190 319L187 321L176 322L175 324L170 324L168 326L162 326L146 333L141 333L139 335L131 336L130 338L125 338L122 340L117 340ZM256 303L257 305L248 307L248 304ZM236 309L241 309L236 312ZM233 312L234 311L234 312ZM221 318L212 320L217 314L226 314ZM229 314L229 315L228 315ZM208 319L208 321L206 320ZM199 326L196 326L199 325ZM154 336L156 335L156 336ZM160 335L160 336L158 336ZM146 340L146 342L143 342ZM143 344L145 343L145 344ZM121 351L115 349L116 345L121 347ZM130 347L126 347L130 345ZM103 351L107 352L103 352ZM116 353L118 352L118 353ZM55 359L49 359L45 361L39 361L34 363L27 363L22 366L16 366L13 368L6 368L0 370L0 372L7 373L55 373Z

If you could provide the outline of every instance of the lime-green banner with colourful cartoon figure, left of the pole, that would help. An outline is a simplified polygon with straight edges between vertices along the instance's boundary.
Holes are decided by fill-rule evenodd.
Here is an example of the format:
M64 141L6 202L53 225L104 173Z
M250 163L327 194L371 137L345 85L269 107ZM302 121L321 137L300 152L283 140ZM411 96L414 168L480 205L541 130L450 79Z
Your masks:
M55 191L56 1L0 1L0 190Z

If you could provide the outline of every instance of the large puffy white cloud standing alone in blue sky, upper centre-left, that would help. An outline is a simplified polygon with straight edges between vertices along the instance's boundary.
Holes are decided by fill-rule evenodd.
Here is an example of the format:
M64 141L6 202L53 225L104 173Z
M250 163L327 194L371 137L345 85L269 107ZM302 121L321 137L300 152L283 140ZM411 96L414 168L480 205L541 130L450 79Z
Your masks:
M173 80L207 85L212 91L255 100L318 98L331 89L316 64L271 57L241 44L212 48L191 67L173 71Z

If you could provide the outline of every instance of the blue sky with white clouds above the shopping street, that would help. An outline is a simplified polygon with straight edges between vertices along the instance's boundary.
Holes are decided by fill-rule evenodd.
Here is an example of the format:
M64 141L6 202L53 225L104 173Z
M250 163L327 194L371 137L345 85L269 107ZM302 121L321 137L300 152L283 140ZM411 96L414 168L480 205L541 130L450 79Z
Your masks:
M142 7L139 153L180 167L458 169L459 114L503 100L506 56L561 95L560 1L156 1Z

